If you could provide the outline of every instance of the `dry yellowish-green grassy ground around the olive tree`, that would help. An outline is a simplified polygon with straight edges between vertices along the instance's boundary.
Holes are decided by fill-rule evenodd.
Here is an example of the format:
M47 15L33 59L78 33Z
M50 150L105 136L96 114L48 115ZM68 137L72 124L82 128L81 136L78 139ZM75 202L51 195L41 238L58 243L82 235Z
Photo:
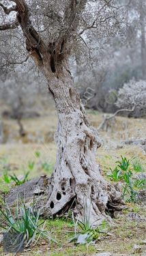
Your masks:
M102 121L102 115L97 112L89 111L89 119L96 127ZM10 143L0 146L0 176L3 169L8 173L23 175L29 171L29 178L40 176L42 173L50 174L55 165L56 146L53 142L57 117L55 111L51 109L45 117L36 119L27 119L23 121L27 136L21 139L18 135L18 126L15 121L5 119L5 137L12 130ZM116 122L111 126L108 132L100 132L103 139L103 145L98 149L97 162L102 168L102 173L107 179L106 174L110 167L115 166L115 161L120 156L131 158L136 156L141 160L141 165L146 169L145 152L138 146L118 147L120 141L132 137L145 137L145 119L127 119L125 117L116 117ZM43 141L43 142L42 142ZM38 154L39 152L39 154ZM30 164L33 168L30 168ZM3 193L8 193L11 184L5 184L0 177L0 203ZM137 255L145 255L146 248L143 241L145 238L145 222L128 221L128 214L134 212L141 214L146 218L145 205L127 204L127 209L118 214L114 219L106 235L100 235L96 244L93 245L76 245L69 242L74 236L74 224L72 218L57 218L55 221L46 221L46 229L50 235L57 240L47 244L44 240L28 248L23 255L51 255L51 256L69 256L69 255L95 255L99 252L108 251L113 255L132 255L134 244L141 246L142 252ZM3 248L0 246L0 255Z

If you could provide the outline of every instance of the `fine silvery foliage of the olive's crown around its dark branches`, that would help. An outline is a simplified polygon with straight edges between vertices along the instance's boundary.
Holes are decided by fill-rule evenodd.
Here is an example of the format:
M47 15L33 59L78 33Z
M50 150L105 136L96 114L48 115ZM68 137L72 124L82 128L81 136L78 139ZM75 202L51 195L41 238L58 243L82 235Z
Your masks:
M13 3L13 1L2 2L5 3L6 6L8 6L8 3L10 2ZM70 31L71 28L68 26L68 20L65 19L65 15L68 16L68 14L70 14L69 9L67 10L68 1L44 0L40 3L40 1L32 0L27 1L27 3L29 6L29 14L31 14L31 18L33 18L33 25L36 31L42 36L46 45L50 42L53 44L53 42L55 42L59 37L60 33L68 33ZM14 10L14 12L12 12L12 10ZM10 11L6 12L7 14L10 12L12 16L15 16L15 11L15 7L11 7ZM2 9L1 14L3 14ZM100 53L104 53L105 55L104 44L108 47L107 43L109 38L113 37L117 33L119 25L123 20L123 16L123 5L120 6L117 1L87 1L87 5L85 6L84 12L79 21L80 24L77 29L73 28L72 40L68 41L71 56L74 57L75 60L77 59L77 61L80 61L80 64L83 63L84 66L91 65L90 67L93 68L93 66L97 66L97 63L99 65L102 61L102 55L100 55ZM8 20L7 16L3 15L2 17L2 21ZM76 20L74 20L74 26L76 26ZM7 29L7 25L8 24L5 23L5 26L2 26L0 29ZM12 21L11 28L15 28L17 26L18 21ZM4 33L5 32L2 32L2 37ZM14 35L14 33L17 33L17 35ZM22 53L25 48L24 38L22 38L22 33L19 28L16 32L6 31L5 37L7 38L7 42L10 41L8 42L8 47L5 48L5 51L9 49L9 52L12 53L12 47L15 48L16 51L15 46L18 45L17 50L19 52L15 54L15 57L13 56L14 61L12 61L15 62L16 58L20 55L20 52ZM13 40L16 38L13 46L11 41L12 38ZM4 38L3 42L4 44L6 42ZM20 44L22 47L20 47ZM27 58L25 51L23 51L23 55L25 61L25 57ZM9 58L10 56L8 59ZM20 56L20 59L22 61L22 55Z

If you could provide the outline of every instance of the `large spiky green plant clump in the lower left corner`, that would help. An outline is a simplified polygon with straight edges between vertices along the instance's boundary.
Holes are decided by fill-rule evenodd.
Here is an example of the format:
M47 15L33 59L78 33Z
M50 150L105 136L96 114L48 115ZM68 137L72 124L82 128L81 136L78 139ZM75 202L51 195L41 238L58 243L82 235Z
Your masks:
M20 246L29 246L38 242L40 238L53 240L48 231L44 230L45 221L40 221L40 210L36 208L35 201L33 205L28 206L23 201L17 202L16 210L12 212L8 205L4 209L0 208L0 227L5 229L6 233L18 235ZM55 240L53 240L55 241ZM17 240L15 241L18 242Z

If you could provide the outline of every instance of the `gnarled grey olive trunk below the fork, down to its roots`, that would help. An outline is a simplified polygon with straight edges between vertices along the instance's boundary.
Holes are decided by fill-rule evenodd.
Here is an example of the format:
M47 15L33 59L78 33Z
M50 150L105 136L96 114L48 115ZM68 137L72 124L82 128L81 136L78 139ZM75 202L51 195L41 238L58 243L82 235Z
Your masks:
M84 216L86 205L91 223L98 225L106 210L116 208L121 201L120 193L104 180L96 164L100 139L87 120L68 63L59 70L51 77L47 67L43 68L59 120L57 162L48 186L46 209L55 215L68 210L75 200L78 218Z

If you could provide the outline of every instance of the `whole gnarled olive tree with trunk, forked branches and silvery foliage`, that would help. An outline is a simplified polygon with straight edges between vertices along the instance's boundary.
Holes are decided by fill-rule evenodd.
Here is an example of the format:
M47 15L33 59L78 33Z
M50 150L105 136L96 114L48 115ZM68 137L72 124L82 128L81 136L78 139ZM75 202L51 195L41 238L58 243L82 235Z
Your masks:
M5 16L14 14L0 30L21 29L27 53L44 75L57 109L57 161L51 177L45 178L42 212L54 216L72 205L81 218L86 204L91 224L98 225L106 211L119 209L121 198L96 163L100 139L74 86L69 60L80 55L86 65L96 65L96 52L118 31L122 8L115 0L1 2Z

